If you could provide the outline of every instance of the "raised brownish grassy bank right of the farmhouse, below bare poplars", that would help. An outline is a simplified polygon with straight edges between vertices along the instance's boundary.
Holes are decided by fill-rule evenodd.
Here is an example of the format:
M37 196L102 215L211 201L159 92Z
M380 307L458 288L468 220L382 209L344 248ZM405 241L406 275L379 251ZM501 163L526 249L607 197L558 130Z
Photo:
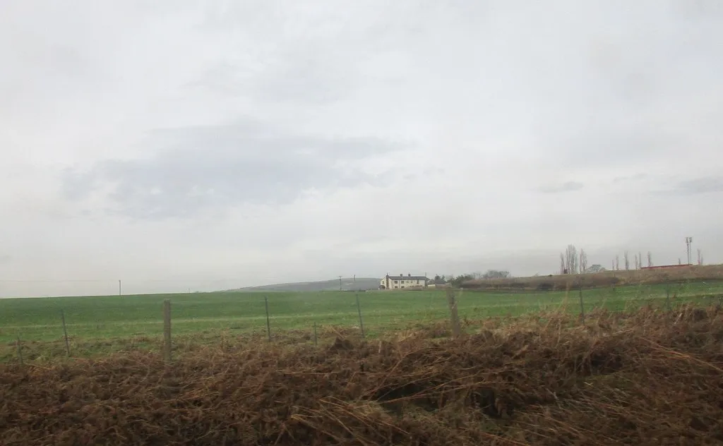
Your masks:
M670 270L604 271L583 275L544 275L526 278L479 279L463 283L462 288L480 290L564 291L570 288L602 288L625 285L723 280L723 265L693 265Z

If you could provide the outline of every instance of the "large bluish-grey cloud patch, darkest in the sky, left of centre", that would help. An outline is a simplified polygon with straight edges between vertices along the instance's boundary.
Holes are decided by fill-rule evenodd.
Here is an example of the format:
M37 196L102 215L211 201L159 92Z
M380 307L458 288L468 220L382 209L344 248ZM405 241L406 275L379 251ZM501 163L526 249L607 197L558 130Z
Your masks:
M244 203L283 204L311 189L384 184L359 162L406 147L375 138L288 134L252 122L159 129L150 145L162 148L149 158L66 171L64 197L81 201L101 191L116 205L110 212L150 219Z

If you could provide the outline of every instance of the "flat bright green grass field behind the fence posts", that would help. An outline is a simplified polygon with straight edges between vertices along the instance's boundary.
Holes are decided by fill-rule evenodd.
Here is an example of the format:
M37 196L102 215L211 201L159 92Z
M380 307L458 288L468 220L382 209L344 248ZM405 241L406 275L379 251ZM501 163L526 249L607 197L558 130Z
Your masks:
M596 307L622 310L643 304L666 305L682 301L718 302L723 283L685 283L671 286L626 286L583 291L587 312ZM457 291L461 318L520 315L555 309L565 304L579 312L578 292L492 293ZM0 341L53 341L63 336L61 310L69 336L74 340L155 337L163 333L162 303L171 299L174 335L236 333L265 330L264 297L268 296L270 325L278 330L311 330L314 323L358 326L354 293L184 293L145 296L62 297L0 299ZM675 296L675 297L674 297ZM388 330L448 317L444 291L373 291L359 293L367 333Z

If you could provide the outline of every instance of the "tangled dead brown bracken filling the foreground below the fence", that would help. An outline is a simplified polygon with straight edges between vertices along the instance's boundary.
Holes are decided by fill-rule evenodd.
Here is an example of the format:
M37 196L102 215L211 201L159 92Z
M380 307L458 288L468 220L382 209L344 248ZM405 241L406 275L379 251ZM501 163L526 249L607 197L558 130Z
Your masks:
M3 445L723 444L723 312L0 366ZM435 327L434 330L439 330Z

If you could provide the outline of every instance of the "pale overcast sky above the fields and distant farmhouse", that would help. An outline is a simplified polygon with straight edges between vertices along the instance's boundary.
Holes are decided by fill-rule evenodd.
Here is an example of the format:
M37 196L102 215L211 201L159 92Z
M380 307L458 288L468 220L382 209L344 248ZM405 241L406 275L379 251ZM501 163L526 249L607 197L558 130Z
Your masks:
M722 48L717 0L1 1L0 295L723 262Z

